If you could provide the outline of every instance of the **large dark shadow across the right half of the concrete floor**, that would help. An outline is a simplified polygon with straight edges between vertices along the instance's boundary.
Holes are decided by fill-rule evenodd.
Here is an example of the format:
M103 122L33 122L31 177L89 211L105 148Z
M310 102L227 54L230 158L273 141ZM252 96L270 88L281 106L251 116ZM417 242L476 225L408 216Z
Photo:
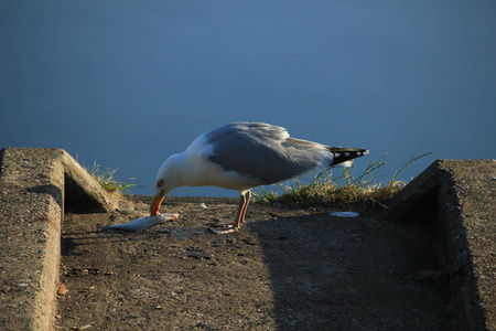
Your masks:
M453 330L429 225L327 213L249 223L271 274L279 330Z

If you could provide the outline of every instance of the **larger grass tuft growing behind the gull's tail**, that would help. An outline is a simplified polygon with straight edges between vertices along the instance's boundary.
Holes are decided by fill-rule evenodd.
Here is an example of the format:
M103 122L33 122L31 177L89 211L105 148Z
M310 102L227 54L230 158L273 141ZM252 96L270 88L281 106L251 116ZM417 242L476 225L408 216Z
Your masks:
M351 204L355 202L371 201L381 204L381 201L392 197L406 183L398 178L412 162L427 157L424 153L413 157L400 170L396 171L387 183L378 182L374 172L386 164L384 158L370 162L365 171L354 177L355 167L341 168L342 173L333 178L332 169L319 173L315 179L303 184L299 179L284 182L282 184L265 186L259 189L259 199L268 203L288 203L300 205L328 205L328 204ZM281 193L282 192L282 193Z

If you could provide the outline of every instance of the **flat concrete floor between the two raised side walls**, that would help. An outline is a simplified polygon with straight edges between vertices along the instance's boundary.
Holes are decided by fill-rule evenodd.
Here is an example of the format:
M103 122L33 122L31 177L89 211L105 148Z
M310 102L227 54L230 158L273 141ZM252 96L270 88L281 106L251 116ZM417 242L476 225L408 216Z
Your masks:
M382 221L365 204L346 218L255 202L241 231L215 235L208 226L233 220L236 200L168 197L175 222L97 231L147 214L150 201L66 215L57 330L454 330L430 225Z

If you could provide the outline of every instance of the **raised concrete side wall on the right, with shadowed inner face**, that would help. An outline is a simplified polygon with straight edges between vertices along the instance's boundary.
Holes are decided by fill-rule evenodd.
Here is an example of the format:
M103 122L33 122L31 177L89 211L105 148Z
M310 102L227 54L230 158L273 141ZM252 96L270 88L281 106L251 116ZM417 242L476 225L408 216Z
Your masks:
M438 160L390 206L388 218L439 225L460 330L496 330L496 161Z

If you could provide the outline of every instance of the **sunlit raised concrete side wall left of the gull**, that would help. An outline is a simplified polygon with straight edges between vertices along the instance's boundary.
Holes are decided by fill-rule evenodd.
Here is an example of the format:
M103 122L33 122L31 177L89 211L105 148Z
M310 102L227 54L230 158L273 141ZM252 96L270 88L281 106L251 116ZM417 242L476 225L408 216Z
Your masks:
M64 210L117 201L61 149L2 149L0 164L0 329L51 330Z

